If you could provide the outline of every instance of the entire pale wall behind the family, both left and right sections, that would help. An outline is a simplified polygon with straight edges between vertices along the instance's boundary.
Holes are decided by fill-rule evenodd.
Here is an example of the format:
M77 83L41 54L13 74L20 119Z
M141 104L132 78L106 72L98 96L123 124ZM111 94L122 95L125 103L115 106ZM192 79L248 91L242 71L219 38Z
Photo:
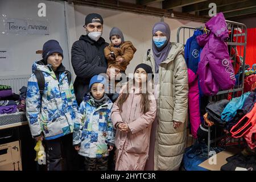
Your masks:
M38 3L40 2L46 3L46 18L38 17ZM5 31L2 14L5 14L7 18L48 20L49 22L49 35L0 34L0 49L10 49L13 52L14 63L13 71L0 72L0 76L30 75L34 60L42 58L35 51L42 49L43 43L49 39L56 39L60 42L64 51L63 64L72 71L71 47L80 35L86 34L82 25L85 16L89 13L98 13L104 18L104 34L102 36L106 42L110 42L109 32L114 26L123 31L125 40L133 42L137 52L126 71L126 73L132 73L135 66L142 62L147 49L151 48L152 26L160 21L160 18L156 16L43 0L0 0L0 12L0 32ZM176 42L176 31L180 26L198 27L203 25L203 23L176 19L164 19L164 21L171 27L172 42Z

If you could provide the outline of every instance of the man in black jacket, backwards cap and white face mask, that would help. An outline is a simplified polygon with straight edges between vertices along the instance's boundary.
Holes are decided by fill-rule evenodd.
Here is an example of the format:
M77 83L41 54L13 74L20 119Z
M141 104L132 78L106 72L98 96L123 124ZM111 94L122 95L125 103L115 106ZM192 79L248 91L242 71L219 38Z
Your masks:
M71 62L76 73L74 89L79 105L88 92L90 78L101 73L110 76L110 68L104 55L104 48L109 44L101 37L103 29L101 15L88 14L85 17L84 28L87 35L81 35L71 49ZM115 73L119 73L119 70L115 70Z

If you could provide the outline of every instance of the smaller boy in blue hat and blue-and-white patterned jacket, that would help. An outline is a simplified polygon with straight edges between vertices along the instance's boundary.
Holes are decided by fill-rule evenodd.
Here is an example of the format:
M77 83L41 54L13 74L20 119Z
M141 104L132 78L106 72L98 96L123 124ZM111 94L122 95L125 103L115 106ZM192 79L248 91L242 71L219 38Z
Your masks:
M105 78L93 76L88 101L82 101L75 119L73 146L85 157L85 170L108 169L109 151L114 147L114 129L110 119L112 101L104 92Z

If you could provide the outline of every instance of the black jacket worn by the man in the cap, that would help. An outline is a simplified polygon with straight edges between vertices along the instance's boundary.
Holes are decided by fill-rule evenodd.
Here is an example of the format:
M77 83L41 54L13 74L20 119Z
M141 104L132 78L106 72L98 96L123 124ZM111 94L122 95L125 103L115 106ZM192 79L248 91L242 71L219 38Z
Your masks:
M108 45L103 38L95 42L88 35L81 35L80 39L73 43L71 62L77 76L74 89L78 104L88 92L90 78L100 73L106 73L107 61L104 56L104 48Z

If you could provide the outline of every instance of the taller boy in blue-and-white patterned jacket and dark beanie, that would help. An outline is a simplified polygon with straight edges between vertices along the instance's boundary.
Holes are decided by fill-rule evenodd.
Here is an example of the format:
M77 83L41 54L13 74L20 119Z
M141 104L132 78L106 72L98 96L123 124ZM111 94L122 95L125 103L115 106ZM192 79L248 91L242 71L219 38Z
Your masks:
M62 64L63 49L56 40L43 46L43 59L32 65L28 80L26 116L31 135L46 145L47 169L62 171L76 169L76 151L72 146L73 120L77 102L70 74ZM41 77L36 73L40 72ZM38 80L40 78L40 80ZM40 93L39 85L44 88Z

